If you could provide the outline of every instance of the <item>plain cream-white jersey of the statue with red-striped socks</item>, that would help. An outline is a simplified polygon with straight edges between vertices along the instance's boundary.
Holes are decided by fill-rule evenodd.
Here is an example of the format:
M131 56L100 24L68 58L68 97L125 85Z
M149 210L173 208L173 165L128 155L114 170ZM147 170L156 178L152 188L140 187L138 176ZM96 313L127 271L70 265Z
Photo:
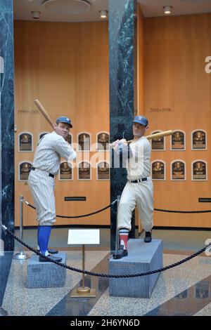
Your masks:
M151 175L151 144L145 136L129 145L132 157L127 159L127 179L137 180Z

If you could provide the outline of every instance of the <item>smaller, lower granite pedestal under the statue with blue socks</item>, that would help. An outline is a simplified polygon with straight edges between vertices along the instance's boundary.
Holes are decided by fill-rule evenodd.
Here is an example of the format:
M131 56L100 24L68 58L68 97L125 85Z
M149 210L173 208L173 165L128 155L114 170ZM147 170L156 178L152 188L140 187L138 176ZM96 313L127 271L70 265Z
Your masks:
M66 253L60 252L55 256L63 258L66 263ZM27 287L34 288L56 288L64 286L66 279L66 268L55 263L40 263L39 256L32 254L27 265Z

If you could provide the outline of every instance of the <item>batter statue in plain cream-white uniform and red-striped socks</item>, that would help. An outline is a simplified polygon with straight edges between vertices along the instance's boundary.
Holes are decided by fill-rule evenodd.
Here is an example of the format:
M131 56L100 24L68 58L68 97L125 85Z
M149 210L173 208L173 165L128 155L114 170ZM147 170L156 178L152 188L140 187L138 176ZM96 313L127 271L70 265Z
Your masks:
M127 184L122 191L117 212L117 228L120 245L113 258L127 256L127 239L131 230L132 212L137 206L141 216L142 227L146 232L144 242L152 240L153 227L153 183L151 180L151 144L143 136L148 129L148 119L136 116L133 121L134 140L128 145L125 139L116 140L112 147L115 154L126 165Z

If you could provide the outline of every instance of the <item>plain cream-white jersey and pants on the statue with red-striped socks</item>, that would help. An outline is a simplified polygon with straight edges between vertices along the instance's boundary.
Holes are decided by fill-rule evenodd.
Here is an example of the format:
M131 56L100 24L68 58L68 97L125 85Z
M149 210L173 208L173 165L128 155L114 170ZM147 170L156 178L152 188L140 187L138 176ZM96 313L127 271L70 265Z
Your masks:
M140 183L124 187L117 214L118 228L131 230L132 211L135 206L141 216L142 227L150 232L153 227L153 183L151 180L151 144L145 136L130 145L132 157L127 160L127 180L147 178Z

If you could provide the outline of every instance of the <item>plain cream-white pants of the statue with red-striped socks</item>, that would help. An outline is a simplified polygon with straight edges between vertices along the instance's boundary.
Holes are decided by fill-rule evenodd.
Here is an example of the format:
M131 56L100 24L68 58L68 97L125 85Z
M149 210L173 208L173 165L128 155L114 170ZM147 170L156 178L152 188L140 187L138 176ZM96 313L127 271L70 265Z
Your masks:
M117 211L118 229L131 230L132 212L137 206L141 225L146 232L153 227L153 183L151 178L141 183L127 183Z

